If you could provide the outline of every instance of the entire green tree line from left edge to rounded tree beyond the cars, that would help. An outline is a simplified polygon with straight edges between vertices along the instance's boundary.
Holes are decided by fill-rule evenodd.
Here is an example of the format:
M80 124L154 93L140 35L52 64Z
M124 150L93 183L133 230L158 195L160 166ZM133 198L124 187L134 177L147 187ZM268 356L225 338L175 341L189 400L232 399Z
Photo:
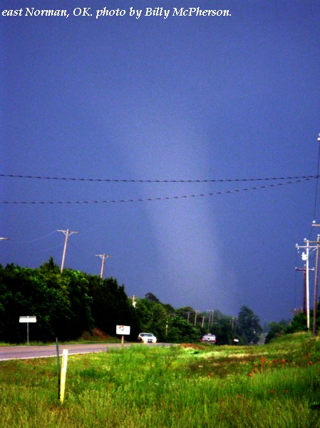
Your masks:
M37 321L30 327L32 341L76 340L94 327L115 336L116 325L130 325L129 341L152 332L160 342L199 342L210 332L221 345L258 342L262 326L249 307L236 318L212 312L175 309L151 292L133 302L115 278L72 269L61 273L53 258L36 269L0 265L0 342L24 342L26 325L19 317L27 315Z

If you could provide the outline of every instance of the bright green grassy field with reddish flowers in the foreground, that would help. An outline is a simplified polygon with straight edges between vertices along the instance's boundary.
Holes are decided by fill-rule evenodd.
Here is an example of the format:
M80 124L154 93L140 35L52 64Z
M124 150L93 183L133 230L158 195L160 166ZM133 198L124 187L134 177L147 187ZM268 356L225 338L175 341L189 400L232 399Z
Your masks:
M0 362L1 427L320 427L320 340L269 345L134 345Z

